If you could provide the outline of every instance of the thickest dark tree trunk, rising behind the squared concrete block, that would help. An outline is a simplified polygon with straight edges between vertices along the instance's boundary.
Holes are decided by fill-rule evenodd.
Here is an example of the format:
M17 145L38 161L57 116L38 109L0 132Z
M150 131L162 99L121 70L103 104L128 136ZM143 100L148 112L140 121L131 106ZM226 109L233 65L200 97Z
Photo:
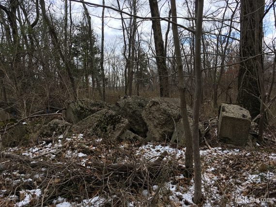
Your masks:
M241 1L240 61L261 54L261 47L258 49L255 48L255 44L262 43L262 25L259 27L259 23L256 24L256 18L261 19L263 15L263 9L258 7L261 3L263 3L263 0ZM259 35L255 37L257 30L259 30ZM261 107L256 61L257 58L255 57L241 62L238 75L239 91L237 101L249 110L252 118L259 114ZM262 65L262 58L260 64Z

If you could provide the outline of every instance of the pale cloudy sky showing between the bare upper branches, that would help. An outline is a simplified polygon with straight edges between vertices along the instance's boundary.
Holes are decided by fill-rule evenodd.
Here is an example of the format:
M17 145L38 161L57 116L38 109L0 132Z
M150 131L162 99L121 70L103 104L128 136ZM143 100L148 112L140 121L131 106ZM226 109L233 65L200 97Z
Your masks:
M102 0L86 0L87 2L96 3L96 4L102 4ZM192 1L192 0L188 0ZM234 0L230 0L234 1ZM266 3L269 3L271 0L266 0ZM123 0L120 0L121 6L123 5ZM138 16L148 16L150 17L150 9L148 6L148 0L139 0L139 8L138 8ZM169 12L169 2L170 0L159 0L159 10L162 17L167 17ZM63 1L60 1L61 4L63 4ZM117 7L116 0L105 0L105 4L108 6L115 5ZM222 16L222 11L219 10L221 6L225 4L224 0L205 0L204 1L204 15L210 16L210 14L215 14L215 17L219 18ZM184 0L176 0L177 5L177 15L178 17L187 17L187 7L184 5ZM234 7L234 5L233 5ZM79 18L82 16L83 13L83 7L81 3L72 2L72 12L76 16L76 18ZM92 17L92 27L94 32L98 35L99 38L101 38L101 15L102 15L102 7L92 7L87 5L87 8L89 10L89 13ZM189 8L190 10L193 10L193 8ZM124 7L123 11L129 12L127 8ZM271 12L267 14L264 18L264 40L269 44L271 41L276 37L276 30L274 27L275 21L274 21L274 15L273 15L273 9L271 9ZM231 11L228 11L228 14L231 14ZM239 15L239 14L237 14ZM127 15L124 15L124 17L127 17ZM238 16L237 16L238 17ZM113 11L111 9L105 9L105 43L108 44L112 41L120 41L123 37L122 33L122 23L121 23L121 15ZM236 20L239 20L237 18ZM138 20L139 21L139 20ZM185 26L188 26L184 22L183 19L178 19L179 24L183 24ZM165 35L165 32L167 30L168 23L165 21L161 21L161 27L163 30L163 35ZM143 21L139 27L138 30L142 31L143 38L149 39L151 37L151 21ZM203 22L203 28L206 30L212 29L212 26L210 22L206 21Z

